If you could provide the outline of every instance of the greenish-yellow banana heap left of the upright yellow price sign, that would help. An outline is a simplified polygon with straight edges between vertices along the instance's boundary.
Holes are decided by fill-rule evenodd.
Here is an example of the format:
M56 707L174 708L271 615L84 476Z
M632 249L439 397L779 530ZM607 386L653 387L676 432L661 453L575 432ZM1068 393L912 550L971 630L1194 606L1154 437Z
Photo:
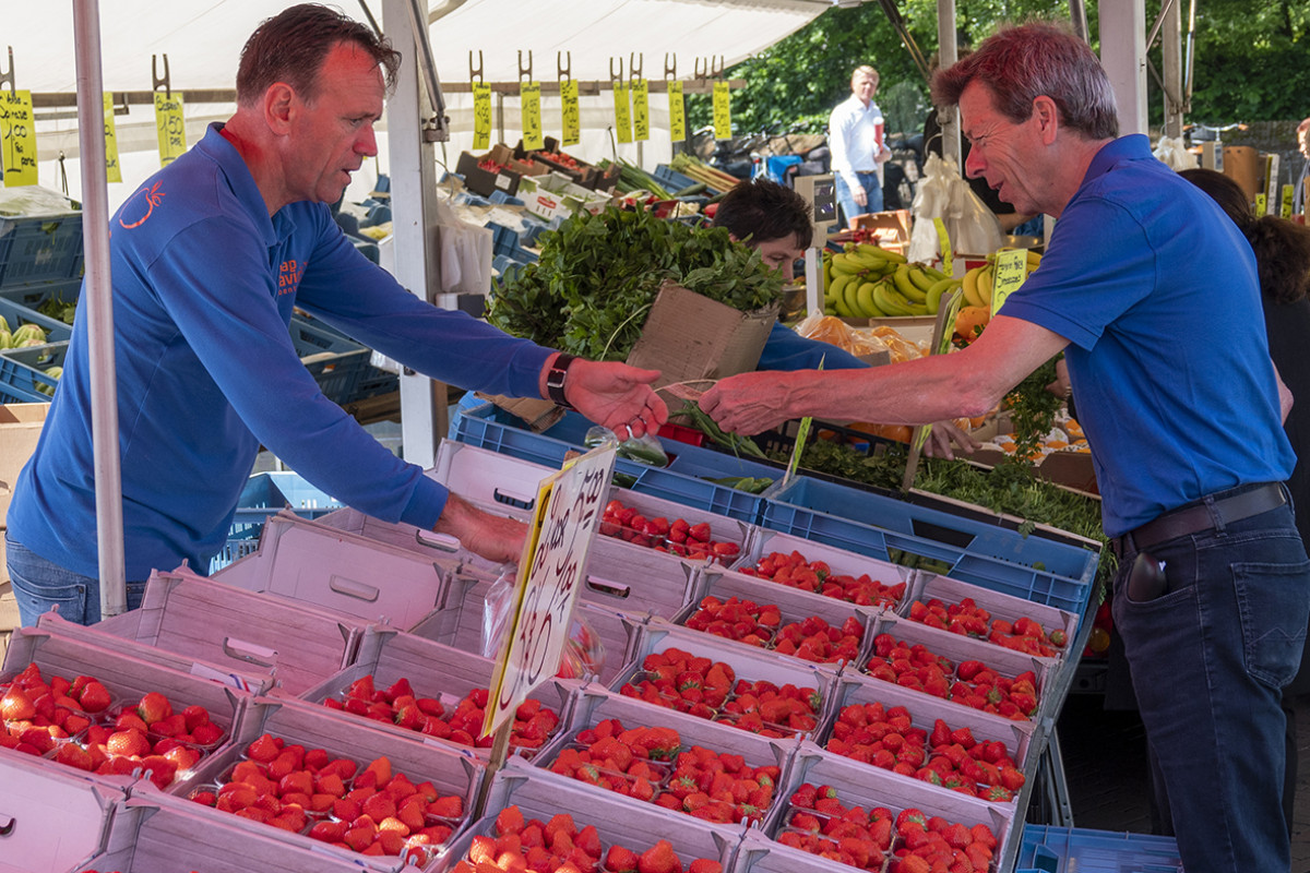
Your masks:
M844 318L931 315L959 279L867 242L824 251L824 313Z

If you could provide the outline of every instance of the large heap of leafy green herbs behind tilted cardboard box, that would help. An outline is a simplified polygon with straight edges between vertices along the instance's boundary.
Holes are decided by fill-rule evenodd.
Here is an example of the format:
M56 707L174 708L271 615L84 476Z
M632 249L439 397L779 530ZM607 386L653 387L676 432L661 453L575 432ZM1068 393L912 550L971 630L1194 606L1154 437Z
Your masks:
M538 240L537 263L493 288L487 321L592 360L627 357L665 280L743 312L782 298L782 275L724 228L609 207Z

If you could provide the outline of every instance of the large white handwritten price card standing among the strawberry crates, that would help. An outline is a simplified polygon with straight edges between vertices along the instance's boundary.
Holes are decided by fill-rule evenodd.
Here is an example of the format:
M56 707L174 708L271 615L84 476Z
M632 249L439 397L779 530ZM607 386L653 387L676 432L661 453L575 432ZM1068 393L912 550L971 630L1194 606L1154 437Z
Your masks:
M495 674L483 736L514 717L519 704L559 670L587 551L596 535L614 470L608 442L541 480L519 564L515 602Z

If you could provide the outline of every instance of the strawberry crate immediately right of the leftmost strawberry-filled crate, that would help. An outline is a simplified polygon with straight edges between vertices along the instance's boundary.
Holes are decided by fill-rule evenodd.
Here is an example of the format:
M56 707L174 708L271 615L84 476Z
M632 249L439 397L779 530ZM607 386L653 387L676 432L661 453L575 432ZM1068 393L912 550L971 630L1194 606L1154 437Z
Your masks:
M214 819L393 870L423 866L460 834L485 776L449 746L255 698L228 750L172 793Z

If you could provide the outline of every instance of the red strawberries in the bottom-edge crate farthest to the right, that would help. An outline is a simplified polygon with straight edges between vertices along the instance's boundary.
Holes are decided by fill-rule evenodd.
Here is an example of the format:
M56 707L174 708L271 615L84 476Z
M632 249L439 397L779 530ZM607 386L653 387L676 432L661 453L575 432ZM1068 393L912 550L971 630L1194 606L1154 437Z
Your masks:
M996 855L986 825L968 827L918 809L892 813L846 806L831 785L806 783L791 794L778 842L865 870L887 873L985 873Z

